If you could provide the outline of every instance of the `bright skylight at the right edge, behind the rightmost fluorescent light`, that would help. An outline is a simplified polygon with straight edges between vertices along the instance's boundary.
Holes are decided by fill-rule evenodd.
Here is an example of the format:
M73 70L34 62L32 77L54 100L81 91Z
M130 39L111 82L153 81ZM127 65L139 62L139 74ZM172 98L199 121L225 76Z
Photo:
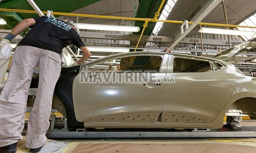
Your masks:
M252 15L248 19L241 22L239 24L239 26L256 26L255 23L256 23L256 14ZM241 31L255 31L256 32L255 28L241 28L241 27L238 27L238 29L241 30ZM248 41L248 40L251 40L251 39L255 38L256 34L253 35L253 36L241 36L241 37L244 38L244 40Z

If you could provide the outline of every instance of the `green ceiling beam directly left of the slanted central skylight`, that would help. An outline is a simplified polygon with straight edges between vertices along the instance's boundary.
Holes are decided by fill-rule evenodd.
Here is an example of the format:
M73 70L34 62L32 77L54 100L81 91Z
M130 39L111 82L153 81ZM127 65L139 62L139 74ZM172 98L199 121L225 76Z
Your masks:
M163 4L160 14L163 11L163 8L166 5L167 1L168 0L166 0ZM162 0L140 0L136 17L153 19L155 12L158 11L161 3ZM134 32L133 34L141 34L144 23L144 21L135 21L134 26L139 26L141 30L139 32ZM155 25L155 22L149 22L147 28L145 28L143 35L151 35Z

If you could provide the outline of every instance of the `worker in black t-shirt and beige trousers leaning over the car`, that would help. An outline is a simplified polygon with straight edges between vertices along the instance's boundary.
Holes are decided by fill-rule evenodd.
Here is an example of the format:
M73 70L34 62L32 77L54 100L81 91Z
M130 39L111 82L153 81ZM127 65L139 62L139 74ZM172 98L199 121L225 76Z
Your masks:
M29 86L38 63L38 91L26 132L26 147L32 153L39 152L47 140L45 134L49 128L55 84L61 72L62 49L73 44L83 51L83 57L75 65L91 55L75 23L52 17L23 20L0 42L0 48L28 27L32 29L17 44L9 77L0 95L0 153L15 153L17 142L22 139Z

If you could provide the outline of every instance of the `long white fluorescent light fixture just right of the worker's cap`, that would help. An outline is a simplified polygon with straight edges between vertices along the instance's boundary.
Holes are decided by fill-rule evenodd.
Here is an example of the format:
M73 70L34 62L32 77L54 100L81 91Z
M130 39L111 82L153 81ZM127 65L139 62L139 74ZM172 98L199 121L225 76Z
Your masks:
M140 27L137 26L112 26L112 25L99 25L99 24L86 24L76 23L79 29L87 30L105 30L105 31L128 31L128 32L139 32Z

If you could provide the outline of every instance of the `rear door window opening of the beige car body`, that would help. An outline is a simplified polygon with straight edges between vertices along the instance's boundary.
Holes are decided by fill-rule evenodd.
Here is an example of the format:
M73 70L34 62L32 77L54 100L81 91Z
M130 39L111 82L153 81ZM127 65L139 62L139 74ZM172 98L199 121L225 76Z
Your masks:
M174 58L173 73L195 73L212 71L211 64L205 60Z

